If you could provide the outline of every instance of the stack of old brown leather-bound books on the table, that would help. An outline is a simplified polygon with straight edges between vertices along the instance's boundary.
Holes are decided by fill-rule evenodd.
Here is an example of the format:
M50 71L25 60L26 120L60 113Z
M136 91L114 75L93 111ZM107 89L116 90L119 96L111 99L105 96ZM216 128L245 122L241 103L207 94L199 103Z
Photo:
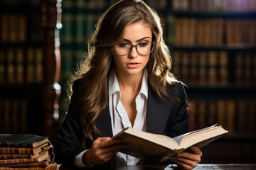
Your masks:
M48 137L0 134L0 170L55 170L53 146Z

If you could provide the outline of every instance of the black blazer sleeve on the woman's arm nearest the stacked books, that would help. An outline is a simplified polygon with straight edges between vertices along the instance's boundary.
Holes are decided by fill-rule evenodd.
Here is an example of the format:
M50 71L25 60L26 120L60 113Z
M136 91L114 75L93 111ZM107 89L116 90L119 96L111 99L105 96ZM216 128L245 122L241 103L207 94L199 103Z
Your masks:
M63 125L53 142L55 162L57 164L74 166L75 157L85 150L81 147L82 141L84 141L84 135L76 104L76 99L78 97L77 94L77 91L73 91L70 106L68 108L68 114L66 115Z

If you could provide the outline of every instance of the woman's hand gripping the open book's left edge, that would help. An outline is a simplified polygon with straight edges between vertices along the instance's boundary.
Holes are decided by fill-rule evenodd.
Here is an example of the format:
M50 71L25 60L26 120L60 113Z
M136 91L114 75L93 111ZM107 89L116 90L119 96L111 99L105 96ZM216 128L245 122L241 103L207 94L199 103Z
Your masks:
M123 144L111 137L99 137L93 142L92 147L82 155L82 162L85 166L104 164L123 147Z

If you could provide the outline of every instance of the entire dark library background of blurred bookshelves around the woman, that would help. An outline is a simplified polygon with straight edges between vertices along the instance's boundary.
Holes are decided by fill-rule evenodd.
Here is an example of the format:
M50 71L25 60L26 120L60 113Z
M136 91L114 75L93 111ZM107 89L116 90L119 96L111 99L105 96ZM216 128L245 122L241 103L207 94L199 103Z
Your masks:
M114 2L1 1L1 133L54 139L68 108L66 82ZM190 130L218 123L229 131L202 148L202 163L255 163L256 2L145 2L161 18L172 72L188 86Z

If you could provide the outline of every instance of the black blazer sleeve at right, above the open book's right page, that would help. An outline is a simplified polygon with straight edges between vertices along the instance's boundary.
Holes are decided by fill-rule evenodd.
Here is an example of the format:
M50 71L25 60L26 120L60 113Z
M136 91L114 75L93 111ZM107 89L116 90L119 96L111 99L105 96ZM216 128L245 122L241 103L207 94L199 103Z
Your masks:
M174 120L171 120L168 126L170 137L176 137L188 132L188 104L187 96L183 83L180 81L176 85L176 98L178 98L177 107L175 109Z

